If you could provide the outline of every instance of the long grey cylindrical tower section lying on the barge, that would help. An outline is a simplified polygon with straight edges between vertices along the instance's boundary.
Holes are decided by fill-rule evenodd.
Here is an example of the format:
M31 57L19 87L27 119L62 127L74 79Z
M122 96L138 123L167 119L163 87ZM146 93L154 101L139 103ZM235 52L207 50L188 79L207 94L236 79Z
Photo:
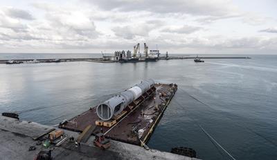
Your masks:
M125 109L125 107L129 105L129 103L132 103L133 100L139 98L153 85L154 80L145 80L140 84L121 92L117 96L106 100L104 103L100 103L96 108L98 117L104 121L109 121L112 116L120 114L123 109Z

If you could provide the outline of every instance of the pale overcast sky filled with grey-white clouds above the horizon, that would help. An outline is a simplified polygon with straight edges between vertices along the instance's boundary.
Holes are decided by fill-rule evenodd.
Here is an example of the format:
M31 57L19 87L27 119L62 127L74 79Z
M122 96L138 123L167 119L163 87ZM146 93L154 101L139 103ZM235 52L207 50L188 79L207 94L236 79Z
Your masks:
M276 0L0 0L0 53L277 54ZM143 45L141 45L141 50Z

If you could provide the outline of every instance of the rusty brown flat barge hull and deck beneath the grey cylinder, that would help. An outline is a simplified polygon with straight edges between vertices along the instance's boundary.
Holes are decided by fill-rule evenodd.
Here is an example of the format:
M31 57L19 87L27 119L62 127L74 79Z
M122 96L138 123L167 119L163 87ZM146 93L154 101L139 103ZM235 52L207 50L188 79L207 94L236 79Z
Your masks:
M71 118L69 121L60 123L59 127L64 130L82 132L88 125L92 125L93 135L102 130L109 139L143 145L150 139L176 91L177 85L155 84L126 107L127 114L122 116L112 127L96 125L96 121L99 120L96 107L91 107L88 111Z

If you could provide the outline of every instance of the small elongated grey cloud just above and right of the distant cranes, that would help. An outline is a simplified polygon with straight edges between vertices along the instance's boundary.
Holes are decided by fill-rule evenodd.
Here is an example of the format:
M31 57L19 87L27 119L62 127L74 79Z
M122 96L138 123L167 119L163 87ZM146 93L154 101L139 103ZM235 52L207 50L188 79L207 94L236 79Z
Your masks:
M190 34L190 33L194 33L197 30L202 29L201 27L197 27L197 26L188 26L188 25L184 25L184 26L173 26L173 27L166 27L163 28L161 30L161 32L164 33L179 33L179 34Z

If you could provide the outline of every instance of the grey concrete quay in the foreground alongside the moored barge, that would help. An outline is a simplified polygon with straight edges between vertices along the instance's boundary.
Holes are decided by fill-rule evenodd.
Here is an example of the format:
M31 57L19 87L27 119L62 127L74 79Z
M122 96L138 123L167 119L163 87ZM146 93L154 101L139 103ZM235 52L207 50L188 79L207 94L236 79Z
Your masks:
M159 150L145 150L136 145L111 140L111 148L100 150L93 145L94 137L91 136L87 143L81 143L80 148L75 143L66 141L59 147L51 145L44 148L36 145L34 137L41 136L49 130L57 129L39 123L18 121L15 118L0 116L0 159L34 159L40 150L52 150L53 159L184 159L197 160ZM61 129L58 129L61 130ZM75 139L77 132L64 130L67 136ZM36 150L28 151L30 146Z

